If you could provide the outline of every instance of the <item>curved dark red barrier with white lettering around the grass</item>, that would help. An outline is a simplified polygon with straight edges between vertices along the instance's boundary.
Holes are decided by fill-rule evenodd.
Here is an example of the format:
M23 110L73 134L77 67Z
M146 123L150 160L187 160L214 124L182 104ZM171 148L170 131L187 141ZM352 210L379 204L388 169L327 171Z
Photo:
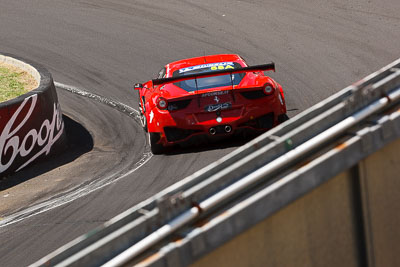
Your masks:
M0 62L30 73L38 88L0 103L0 175L18 171L66 147L61 108L51 74L37 63L0 54Z

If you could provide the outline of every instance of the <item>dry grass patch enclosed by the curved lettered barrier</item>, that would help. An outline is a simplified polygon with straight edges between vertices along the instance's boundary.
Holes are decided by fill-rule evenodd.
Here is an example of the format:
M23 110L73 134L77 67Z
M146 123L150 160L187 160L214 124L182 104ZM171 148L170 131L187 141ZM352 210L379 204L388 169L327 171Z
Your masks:
M39 86L28 72L0 62L0 102L23 95Z

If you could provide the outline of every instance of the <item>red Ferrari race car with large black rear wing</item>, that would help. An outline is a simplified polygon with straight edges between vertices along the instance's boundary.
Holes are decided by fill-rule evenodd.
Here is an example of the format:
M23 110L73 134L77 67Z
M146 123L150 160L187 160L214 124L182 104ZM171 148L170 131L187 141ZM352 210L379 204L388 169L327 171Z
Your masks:
M196 137L263 132L287 120L282 87L264 75L269 70L274 63L248 66L238 55L203 56L169 63L156 79L135 84L153 154Z

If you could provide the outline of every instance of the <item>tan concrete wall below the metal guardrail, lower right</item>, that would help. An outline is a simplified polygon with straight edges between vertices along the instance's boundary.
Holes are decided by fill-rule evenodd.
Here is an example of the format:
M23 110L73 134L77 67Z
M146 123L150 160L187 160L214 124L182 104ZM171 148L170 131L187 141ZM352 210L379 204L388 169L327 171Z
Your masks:
M399 151L390 142L190 266L400 266Z

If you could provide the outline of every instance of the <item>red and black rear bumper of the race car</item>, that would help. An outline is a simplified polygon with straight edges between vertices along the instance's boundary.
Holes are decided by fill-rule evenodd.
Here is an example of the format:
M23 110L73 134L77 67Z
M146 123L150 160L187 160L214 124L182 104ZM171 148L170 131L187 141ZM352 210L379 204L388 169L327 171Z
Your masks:
M192 103L196 105L196 103ZM271 97L268 102L249 101L216 112L161 111L155 108L148 118L150 132L160 134L159 143L170 146L194 137L218 140L243 131L263 132L279 124L278 116L286 112L284 104Z

